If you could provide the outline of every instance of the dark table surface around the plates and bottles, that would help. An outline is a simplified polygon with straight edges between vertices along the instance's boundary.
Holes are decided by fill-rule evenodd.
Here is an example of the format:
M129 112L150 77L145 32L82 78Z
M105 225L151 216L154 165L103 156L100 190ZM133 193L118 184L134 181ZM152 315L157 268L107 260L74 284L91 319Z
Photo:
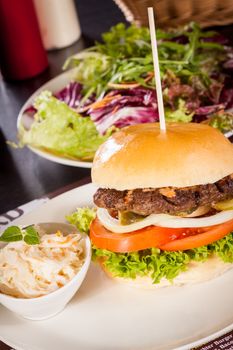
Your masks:
M100 39L101 33L112 25L125 22L112 0L77 0L76 6L83 34L78 42L49 52L49 68L36 78L6 82L0 76L0 214L90 176L89 169L53 163L27 148L13 149L6 143L16 141L17 115L24 102L42 84L61 73L65 59ZM232 33L229 29L224 31ZM0 342L0 349L9 348Z

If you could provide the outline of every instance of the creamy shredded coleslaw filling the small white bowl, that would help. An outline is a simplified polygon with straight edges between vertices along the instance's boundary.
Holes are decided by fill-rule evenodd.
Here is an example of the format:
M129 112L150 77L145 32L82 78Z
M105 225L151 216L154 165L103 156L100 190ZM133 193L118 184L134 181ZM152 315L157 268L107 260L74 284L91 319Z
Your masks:
M45 234L40 243L10 242L0 251L0 292L36 298L66 285L84 263L80 234Z

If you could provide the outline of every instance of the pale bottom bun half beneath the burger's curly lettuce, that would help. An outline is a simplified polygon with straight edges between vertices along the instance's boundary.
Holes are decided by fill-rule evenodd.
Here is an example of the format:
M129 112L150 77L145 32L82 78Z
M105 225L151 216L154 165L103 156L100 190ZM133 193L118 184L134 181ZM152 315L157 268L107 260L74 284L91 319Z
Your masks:
M190 262L188 264L187 270L181 272L176 278L174 278L172 282L168 281L166 278L162 278L160 283L155 284L153 283L153 280L150 278L150 276L138 276L135 279L114 277L107 270L103 263L100 262L100 265L105 273L115 281L141 289L157 289L162 287L184 286L195 283L202 283L214 279L233 268L233 264L224 263L218 257L213 256L204 262Z

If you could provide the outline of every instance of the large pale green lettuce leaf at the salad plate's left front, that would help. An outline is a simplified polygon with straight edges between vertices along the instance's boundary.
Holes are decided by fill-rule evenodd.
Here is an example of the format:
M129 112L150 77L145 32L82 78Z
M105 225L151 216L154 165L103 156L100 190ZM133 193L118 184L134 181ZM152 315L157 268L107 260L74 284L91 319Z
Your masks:
M71 159L92 160L109 135L102 136L89 117L82 117L48 91L35 100L34 121L29 130L21 125L19 139L27 144Z

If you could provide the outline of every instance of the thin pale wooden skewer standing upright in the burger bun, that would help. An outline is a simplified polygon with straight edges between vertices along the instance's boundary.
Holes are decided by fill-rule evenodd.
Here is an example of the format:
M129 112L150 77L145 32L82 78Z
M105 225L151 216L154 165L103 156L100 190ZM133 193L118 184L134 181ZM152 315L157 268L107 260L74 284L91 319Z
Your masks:
M152 55L153 55L153 62L154 62L156 94L157 94L158 110L159 110L159 123L160 123L160 129L162 131L166 131L166 121L165 121L164 104L163 104L163 92L162 92L162 86L161 86L158 48L157 48L156 31L155 31L154 10L153 10L153 7L148 7L147 10L148 10Z

